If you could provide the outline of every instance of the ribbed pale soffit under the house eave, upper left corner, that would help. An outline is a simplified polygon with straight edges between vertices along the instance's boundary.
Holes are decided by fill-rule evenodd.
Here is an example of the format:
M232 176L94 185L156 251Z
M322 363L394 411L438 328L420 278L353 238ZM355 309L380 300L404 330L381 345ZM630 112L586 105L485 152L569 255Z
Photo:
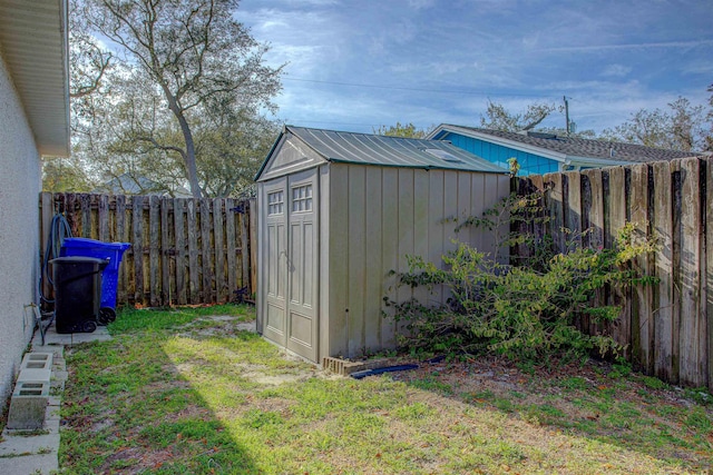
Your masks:
M0 0L0 55L46 156L69 156L67 0Z

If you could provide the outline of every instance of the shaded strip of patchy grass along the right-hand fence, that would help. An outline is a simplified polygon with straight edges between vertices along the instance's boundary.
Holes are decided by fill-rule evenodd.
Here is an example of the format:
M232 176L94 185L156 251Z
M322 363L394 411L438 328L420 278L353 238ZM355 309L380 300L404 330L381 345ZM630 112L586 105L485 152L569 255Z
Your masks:
M545 376L492 362L437 364L397 379L531 427L561 431L696 472L713 467L711 406L684 400L672 388L654 389L646 384L653 378L609 377L605 366L612 370L602 365Z

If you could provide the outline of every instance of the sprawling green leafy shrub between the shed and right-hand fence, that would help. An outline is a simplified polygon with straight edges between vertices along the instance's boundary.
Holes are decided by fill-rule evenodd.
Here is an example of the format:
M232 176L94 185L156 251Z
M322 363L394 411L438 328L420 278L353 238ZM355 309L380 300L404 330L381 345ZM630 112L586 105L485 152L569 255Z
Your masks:
M631 264L654 251L655 240L636 236L635 226L627 224L612 248L568 246L556 253L549 236L507 226L544 224L537 212L540 202L540 194L510 196L482 216L458 222L457 229L478 226L496 236L501 229L514 229L498 239L500 248L527 249L517 265L504 264L497 253L482 253L466 243L456 243L456 250L442 256L443 268L408 256L409 271L398 275L399 285L430 290L438 286L449 290L450 297L442 306L384 298L394 307L395 319L407 324L402 345L427 353L498 354L540 363L553 357L583 360L593 352L619 354L622 348L611 335L587 335L575 323L583 316L597 323L618 317L618 307L593 306L593 297L605 286L652 283L653 278L641 276Z

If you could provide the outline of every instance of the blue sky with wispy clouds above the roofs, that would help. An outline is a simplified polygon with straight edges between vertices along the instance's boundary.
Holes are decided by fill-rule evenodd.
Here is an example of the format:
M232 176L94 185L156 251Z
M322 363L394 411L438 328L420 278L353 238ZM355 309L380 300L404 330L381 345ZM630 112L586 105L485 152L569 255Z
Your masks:
M243 0L237 18L286 63L277 118L305 127L477 126L488 99L567 96L600 131L713 83L713 0Z

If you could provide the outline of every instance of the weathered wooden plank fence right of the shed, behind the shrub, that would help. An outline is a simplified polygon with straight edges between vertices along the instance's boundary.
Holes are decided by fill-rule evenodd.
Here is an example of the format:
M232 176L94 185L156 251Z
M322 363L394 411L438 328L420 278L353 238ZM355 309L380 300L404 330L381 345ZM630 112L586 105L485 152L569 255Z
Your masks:
M611 247L625 222L658 249L634 265L658 284L611 288L598 299L622 306L611 330L628 357L652 375L713 389L713 160L687 158L514 179L518 194L546 190L550 218L531 231L558 249ZM574 231L565 232L563 228ZM585 229L590 232L579 234ZM574 243L573 243L574 241ZM710 244L710 245L709 245ZM516 250L517 253L517 250ZM596 305L596 301L594 303ZM589 330L596 331L594 325Z

